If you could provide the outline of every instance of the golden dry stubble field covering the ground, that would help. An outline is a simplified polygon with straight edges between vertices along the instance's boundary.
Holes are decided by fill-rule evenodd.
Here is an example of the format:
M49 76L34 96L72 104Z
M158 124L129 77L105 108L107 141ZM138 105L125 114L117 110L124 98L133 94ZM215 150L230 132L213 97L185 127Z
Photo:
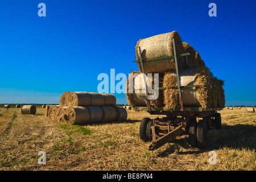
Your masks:
M127 110L127 121L101 125L50 122L44 109L22 115L20 109L0 108L1 170L255 170L256 113L224 109L222 129L209 130L205 150L189 147L186 138L148 151L139 138L146 111ZM46 152L46 165L38 152ZM217 164L208 164L209 151Z

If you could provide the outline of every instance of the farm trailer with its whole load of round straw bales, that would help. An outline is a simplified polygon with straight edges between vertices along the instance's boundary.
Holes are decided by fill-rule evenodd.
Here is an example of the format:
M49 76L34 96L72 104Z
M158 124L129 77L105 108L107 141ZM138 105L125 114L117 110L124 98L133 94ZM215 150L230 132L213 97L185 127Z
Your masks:
M217 111L225 106L224 81L213 76L199 52L176 31L139 40L135 53L139 71L127 79L127 101L134 110L163 115L141 121L139 135L152 141L149 150L182 135L188 135L192 147L205 148L207 130L221 129ZM157 94L148 88L157 89Z

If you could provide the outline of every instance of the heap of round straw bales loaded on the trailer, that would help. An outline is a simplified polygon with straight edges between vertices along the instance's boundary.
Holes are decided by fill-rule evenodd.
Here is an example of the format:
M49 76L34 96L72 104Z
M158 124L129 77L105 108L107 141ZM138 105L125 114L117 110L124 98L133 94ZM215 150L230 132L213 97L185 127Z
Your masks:
M181 97L183 106L203 107L204 109L223 108L225 107L224 81L218 80L205 66L204 60L201 59L197 52L189 43L181 42L180 36L176 31L167 34L155 35L150 38L141 39L135 46L137 60L140 60L138 46L141 47L142 60L155 59L174 55L172 38L175 39L176 53L189 53L188 56L177 56L179 68L179 78L181 86L199 85L197 88L181 88ZM155 100L149 100L152 107L165 107L173 109L179 107L179 90L177 89L176 69L174 59L160 59L157 61L144 61L144 73L146 73L147 85L154 80L148 79L148 73L159 73L159 97ZM134 108L138 106L147 106L146 93L142 92L141 82L134 82L137 76L142 75L141 63L138 62L139 72L132 71L129 78L133 76L133 84L126 82L126 98L129 104ZM152 74L154 75L154 74ZM154 85L154 81L153 84ZM129 93L137 86L139 93ZM130 88L129 88L130 87Z

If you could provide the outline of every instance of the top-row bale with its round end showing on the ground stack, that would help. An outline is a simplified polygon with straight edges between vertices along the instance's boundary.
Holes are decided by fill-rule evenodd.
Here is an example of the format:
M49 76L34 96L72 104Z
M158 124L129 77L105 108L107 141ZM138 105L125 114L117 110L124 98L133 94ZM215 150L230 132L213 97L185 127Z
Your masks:
M88 92L71 92L67 100L67 106L90 106L92 98Z

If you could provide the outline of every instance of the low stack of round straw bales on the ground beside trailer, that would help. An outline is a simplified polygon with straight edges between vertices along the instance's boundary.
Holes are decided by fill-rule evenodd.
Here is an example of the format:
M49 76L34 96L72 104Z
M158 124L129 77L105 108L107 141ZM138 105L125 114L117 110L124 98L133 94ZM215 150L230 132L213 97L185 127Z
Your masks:
M51 121L88 125L126 121L127 111L116 106L114 94L64 92L59 106L46 106Z

